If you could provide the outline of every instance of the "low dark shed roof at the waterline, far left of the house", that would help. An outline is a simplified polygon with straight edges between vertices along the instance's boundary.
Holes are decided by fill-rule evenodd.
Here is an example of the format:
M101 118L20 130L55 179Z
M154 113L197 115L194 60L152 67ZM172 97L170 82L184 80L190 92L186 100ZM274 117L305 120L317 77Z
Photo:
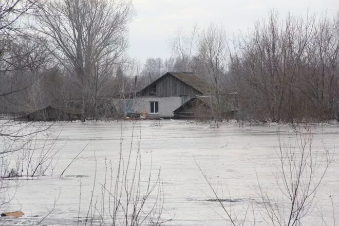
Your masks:
M81 109L71 107L47 106L32 110L16 121L72 121L81 119Z

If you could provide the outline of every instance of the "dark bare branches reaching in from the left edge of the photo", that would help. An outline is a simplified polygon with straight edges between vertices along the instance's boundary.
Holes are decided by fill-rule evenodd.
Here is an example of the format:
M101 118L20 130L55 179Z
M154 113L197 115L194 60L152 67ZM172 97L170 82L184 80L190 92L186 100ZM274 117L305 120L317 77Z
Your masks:
M27 93L31 83L27 82L29 79L25 70L45 59L44 55L39 56L39 59L30 58L34 53L39 55L39 48L34 44L26 45L32 44L29 39L33 37L27 35L27 27L19 23L23 16L36 13L40 7L37 1L28 0L5 0L0 4L0 80L5 81L0 86L2 104L24 105L19 98L11 99L10 96L20 94L23 97ZM17 152L31 140L32 135L48 128L49 126L3 121L0 124L0 139L4 145L0 156Z

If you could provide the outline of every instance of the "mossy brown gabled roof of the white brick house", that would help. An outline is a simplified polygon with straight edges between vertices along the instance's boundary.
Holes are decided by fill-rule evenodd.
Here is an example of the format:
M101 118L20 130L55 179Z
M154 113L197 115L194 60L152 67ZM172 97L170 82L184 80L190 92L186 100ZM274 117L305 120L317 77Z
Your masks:
M189 85L192 88L198 90L202 94L209 94L210 93L210 91L209 91L210 90L209 89L209 84L206 83L204 80L200 79L198 76L196 76L192 72L167 72L163 76L161 76L160 78L155 80L154 82L152 82L149 85L147 85L142 90L146 89L149 86L154 85L160 79L162 79L163 77L167 76L168 74L170 74L171 76L177 78L178 80L180 80L181 82L185 83L186 85Z

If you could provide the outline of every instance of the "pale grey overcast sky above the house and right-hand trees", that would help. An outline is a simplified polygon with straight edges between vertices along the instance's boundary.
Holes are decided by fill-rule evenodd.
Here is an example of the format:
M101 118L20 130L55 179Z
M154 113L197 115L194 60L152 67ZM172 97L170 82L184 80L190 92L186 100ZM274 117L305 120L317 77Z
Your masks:
M339 9L338 0L134 0L133 4L137 15L130 24L128 54L142 63L148 57L171 56L168 43L179 27L190 32L194 23L203 28L214 22L232 34L253 27L270 9L280 16L289 10L305 15L307 8L333 15Z

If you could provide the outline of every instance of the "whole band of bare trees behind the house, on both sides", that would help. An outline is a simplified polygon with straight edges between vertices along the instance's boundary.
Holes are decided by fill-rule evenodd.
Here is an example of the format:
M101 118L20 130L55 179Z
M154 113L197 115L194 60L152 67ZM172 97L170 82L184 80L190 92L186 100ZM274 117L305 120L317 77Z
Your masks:
M178 29L173 57L141 65L126 55L134 14L130 2L5 0L1 110L67 105L80 108L83 120L88 109L98 119L107 98L130 98L166 71L191 71L209 83L220 109L221 96L232 93L239 120L339 120L338 15L271 11L233 35L215 24Z

